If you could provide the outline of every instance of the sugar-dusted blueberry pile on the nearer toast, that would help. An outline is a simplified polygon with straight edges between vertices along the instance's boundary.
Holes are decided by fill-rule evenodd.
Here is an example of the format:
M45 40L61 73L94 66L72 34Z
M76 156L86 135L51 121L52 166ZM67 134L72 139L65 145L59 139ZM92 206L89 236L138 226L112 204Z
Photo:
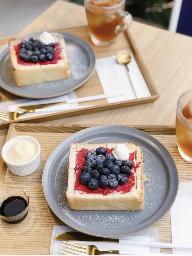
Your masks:
M99 185L103 188L116 188L118 184L125 184L131 175L133 162L130 160L116 160L112 153L106 154L104 147L85 153L85 166L79 175L79 181L87 184L92 190Z

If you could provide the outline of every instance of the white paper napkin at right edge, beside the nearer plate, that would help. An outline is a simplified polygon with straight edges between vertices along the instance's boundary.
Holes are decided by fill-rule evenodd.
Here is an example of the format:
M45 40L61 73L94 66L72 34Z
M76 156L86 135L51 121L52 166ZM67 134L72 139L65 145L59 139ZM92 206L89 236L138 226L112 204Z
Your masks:
M192 182L180 182L171 211L172 243L191 244ZM173 249L173 254L192 255L192 250Z

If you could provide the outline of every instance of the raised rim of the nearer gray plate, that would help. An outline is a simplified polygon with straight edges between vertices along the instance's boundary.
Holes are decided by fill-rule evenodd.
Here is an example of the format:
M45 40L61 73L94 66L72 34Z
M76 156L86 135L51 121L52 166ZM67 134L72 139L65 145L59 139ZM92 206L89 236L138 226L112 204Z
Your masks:
M155 221L154 223L152 223L152 224L149 225L148 227L145 227L145 228L143 228L143 229L141 229L141 230L138 230L138 231L136 231L136 232L132 232L132 233L128 233L128 234L123 234L123 235L118 235L118 237L133 235L133 234L142 232L142 231L148 229L149 227L152 227L152 226L155 225L158 221L160 221L162 218L164 218L164 216L170 211L171 207L173 206L173 204L174 204L174 202L175 202L175 200L176 200L176 197L177 197L177 194L178 194L178 191L179 191L179 173L178 173L178 170L177 170L176 163L175 163L175 161L173 160L173 157L171 156L171 154L170 154L170 152L167 150L167 148L166 148L161 142L159 142L157 139L155 139L154 137L152 137L150 134L145 133L145 132L143 132L143 131L141 131L141 130L139 130L139 129L137 129L137 128L133 128L133 127L129 127L129 126L122 126L122 125L98 125L98 126L92 126L92 127L85 128L85 129L80 130L80 131L78 131L78 132L76 132L76 133L81 134L81 133L83 133L85 130L95 130L95 129L101 128L101 127L103 127L103 126L109 127L109 128L110 128L111 126L113 126L113 127L114 127L114 126L117 126L118 128L119 128L119 127L124 127L124 128L128 128L128 130L129 130L129 129L131 129L131 130L137 130L137 131L141 132L141 134L143 134L143 133L146 134L147 136L149 136L149 138L152 138L152 139L154 139L156 142L158 142L158 143L164 148L164 150L167 151L167 153L169 154L170 158L172 159L173 164L175 165L176 174L177 174L177 177L176 177L176 178L177 178L177 190L176 190L176 194L175 194L175 196L174 196L173 202L172 202L171 205L168 207L168 209L167 209L167 211L164 213L164 215L162 215L161 218L159 218L157 221ZM72 135L70 135L70 136L67 137L66 139L69 139L71 136L73 136L73 135L76 134L76 133L73 133ZM61 143L63 143L66 139L64 139ZM74 230L77 230L77 231L79 231L79 232L81 232L81 233L85 233L85 234L88 234L88 235L91 235L91 236L97 236L97 237L107 237L107 238L114 238L114 237L117 237L117 236L95 235L95 234L88 233L88 232L85 232L85 231L83 231L83 230L77 229L77 228L71 226L70 224L66 223L64 220L62 220L62 219L55 213L55 211L52 209L52 207L49 205L49 203L48 203L48 201L47 201L47 199L46 199L46 196L45 196L45 192L44 192L43 175L44 175L45 166L46 166L46 163L47 163L48 159L51 157L52 153L59 147L59 145L60 145L61 143L59 143L59 144L56 146L56 148L51 152L51 154L50 154L49 157L47 158L47 160L46 160L46 162L45 162L45 165L44 165L43 172L42 172L42 180L41 180L42 190L43 190L43 194L44 194L45 200L46 200L46 202L47 202L49 208L52 210L52 212L55 214L55 216L57 216L57 218L60 219L64 224L66 224L67 226L69 226L69 227L73 228ZM148 142L148 143L151 144L150 142ZM166 165L167 165L167 164L166 164ZM159 212L159 210L158 210L157 212Z

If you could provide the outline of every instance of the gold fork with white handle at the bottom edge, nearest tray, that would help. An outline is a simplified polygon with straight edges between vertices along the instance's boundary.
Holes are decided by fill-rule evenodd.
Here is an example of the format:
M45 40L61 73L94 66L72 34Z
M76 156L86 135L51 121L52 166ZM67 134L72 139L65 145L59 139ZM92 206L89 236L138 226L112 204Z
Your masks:
M60 251L64 255L101 255L101 254L121 254L121 255L172 255L169 253L155 253L147 251L99 251L95 245L84 245L62 241Z

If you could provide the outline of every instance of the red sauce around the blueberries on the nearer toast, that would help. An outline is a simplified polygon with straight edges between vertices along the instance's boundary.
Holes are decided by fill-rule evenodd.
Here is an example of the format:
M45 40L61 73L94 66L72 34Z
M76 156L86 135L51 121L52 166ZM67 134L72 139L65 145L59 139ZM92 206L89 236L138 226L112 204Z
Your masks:
M128 182L124 185L118 185L115 189L111 189L109 187L98 187L96 190L91 190L88 188L87 185L83 185L79 182L79 175L81 174L81 169L85 165L85 153L88 151L86 148L82 148L81 150L77 151L76 155L76 166L75 166L75 190L82 191L84 193L88 194L103 194L108 195L116 192L122 192L122 193L128 193L131 191L132 187L135 185L137 187L137 178L135 181L135 175L133 172L136 172L137 168L139 168L140 163L138 163L136 166L134 164L131 175L128 177ZM113 148L107 148L107 153L111 153L113 151ZM137 151L130 154L129 160L134 161L134 158L137 158Z

